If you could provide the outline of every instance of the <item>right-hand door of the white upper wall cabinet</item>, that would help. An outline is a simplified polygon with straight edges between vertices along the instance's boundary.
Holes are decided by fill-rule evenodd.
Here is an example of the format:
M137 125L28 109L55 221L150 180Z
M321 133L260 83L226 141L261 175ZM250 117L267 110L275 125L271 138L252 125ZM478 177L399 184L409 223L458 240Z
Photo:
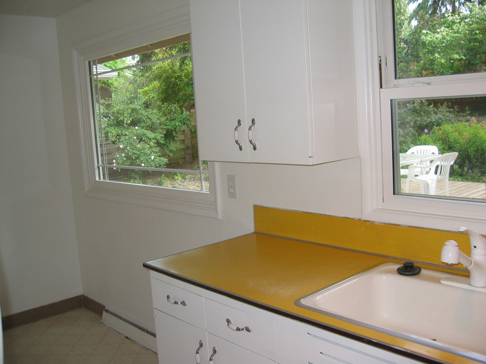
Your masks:
M303 0L241 0L251 162L310 164L310 65ZM323 35L325 36L325 35Z

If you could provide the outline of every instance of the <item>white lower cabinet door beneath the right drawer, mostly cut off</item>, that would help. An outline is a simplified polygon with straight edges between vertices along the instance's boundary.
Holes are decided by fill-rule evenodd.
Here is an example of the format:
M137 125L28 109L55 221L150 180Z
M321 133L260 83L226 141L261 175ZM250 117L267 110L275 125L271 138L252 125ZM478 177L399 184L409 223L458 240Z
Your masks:
M208 334L208 343L210 355L214 354L210 364L275 364L268 358L211 334Z

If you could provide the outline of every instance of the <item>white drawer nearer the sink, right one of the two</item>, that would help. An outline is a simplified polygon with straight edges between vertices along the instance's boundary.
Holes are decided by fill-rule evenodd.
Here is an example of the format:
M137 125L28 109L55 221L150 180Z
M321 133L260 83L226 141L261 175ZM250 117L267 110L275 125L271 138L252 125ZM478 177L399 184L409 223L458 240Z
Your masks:
M275 360L273 321L215 301L206 300L205 303L208 333ZM248 311L251 312L251 309L253 308L249 307ZM228 324L227 320L231 322ZM237 327L239 329L248 327L248 329L235 331Z

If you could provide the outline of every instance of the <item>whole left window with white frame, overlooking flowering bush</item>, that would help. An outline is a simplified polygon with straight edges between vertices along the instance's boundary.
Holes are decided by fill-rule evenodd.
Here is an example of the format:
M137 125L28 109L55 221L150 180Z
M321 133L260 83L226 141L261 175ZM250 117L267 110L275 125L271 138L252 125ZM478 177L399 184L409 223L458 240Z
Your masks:
M77 51L85 193L219 217L216 163L198 158L190 34L162 38L174 32L163 26Z

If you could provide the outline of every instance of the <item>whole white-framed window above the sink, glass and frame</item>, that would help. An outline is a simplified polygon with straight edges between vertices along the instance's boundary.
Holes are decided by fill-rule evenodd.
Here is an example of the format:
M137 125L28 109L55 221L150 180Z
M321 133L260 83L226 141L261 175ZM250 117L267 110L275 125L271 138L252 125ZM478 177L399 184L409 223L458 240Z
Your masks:
M368 62L358 80L367 111L361 121L368 132L362 139L365 217L417 226L424 224L418 216L428 216L427 224L436 217L484 221L486 6L355 4L365 14L356 22L357 42L361 37L364 44L357 52ZM358 34L360 27L366 35Z

